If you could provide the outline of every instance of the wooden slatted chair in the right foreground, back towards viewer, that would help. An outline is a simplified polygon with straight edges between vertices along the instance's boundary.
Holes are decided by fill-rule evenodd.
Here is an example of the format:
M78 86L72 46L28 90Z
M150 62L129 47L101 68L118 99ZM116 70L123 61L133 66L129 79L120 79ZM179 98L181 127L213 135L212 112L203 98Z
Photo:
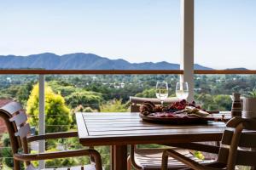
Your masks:
M177 153L165 150L162 156L162 170L167 169L168 157L182 162L191 169L217 170L235 169L236 165L256 167L256 119L233 118L224 130L221 146L208 146L212 153L218 154L218 160L202 165ZM247 149L246 149L247 148Z

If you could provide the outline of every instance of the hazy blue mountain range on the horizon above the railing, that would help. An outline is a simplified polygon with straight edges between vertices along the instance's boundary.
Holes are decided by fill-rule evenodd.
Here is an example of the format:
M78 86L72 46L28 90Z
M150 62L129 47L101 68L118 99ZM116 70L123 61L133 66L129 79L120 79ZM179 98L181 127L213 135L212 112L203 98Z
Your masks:
M195 64L195 70L212 70ZM179 65L162 62L130 63L125 59L108 59L96 54L51 53L28 56L0 55L0 69L45 69L45 70L179 70Z

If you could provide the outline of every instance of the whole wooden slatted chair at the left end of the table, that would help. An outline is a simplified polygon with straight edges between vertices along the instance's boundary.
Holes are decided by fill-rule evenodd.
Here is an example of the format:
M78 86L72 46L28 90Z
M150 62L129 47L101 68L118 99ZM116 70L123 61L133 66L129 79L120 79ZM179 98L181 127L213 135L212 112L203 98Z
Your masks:
M60 139L60 138L71 138L77 137L77 132L67 132L67 133L46 133L44 135L30 135L30 126L26 122L27 116L25 111L22 109L21 105L17 102L11 102L8 105L4 105L0 108L0 117L3 118L6 123L6 127L9 131L10 144L12 148L12 154L14 156L14 169L21 169L21 161L25 161L26 170L36 170L32 166L31 161L47 160L63 157L73 157L73 156L91 156L93 158L94 165L88 165L83 167L68 167L61 169L88 169L93 167L96 170L102 170L102 160L100 154L93 149L89 150L65 150L65 151L55 151L47 153L30 154L28 143L32 141L42 140L42 139ZM53 170L53 168L51 168Z

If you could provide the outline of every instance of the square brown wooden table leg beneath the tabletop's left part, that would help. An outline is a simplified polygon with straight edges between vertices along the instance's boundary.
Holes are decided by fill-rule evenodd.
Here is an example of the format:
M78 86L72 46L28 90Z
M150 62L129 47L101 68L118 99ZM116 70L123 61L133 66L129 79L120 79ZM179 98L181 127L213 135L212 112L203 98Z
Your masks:
M127 145L113 146L113 169L127 170Z

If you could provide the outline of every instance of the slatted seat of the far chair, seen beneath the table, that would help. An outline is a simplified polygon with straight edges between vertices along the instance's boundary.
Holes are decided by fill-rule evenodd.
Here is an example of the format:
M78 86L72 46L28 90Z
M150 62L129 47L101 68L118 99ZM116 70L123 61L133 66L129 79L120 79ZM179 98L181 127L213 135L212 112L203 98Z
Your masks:
M166 149L138 149L135 150L135 161L137 165L143 167L144 169L156 170L160 169L161 161L162 161L162 154L163 151ZM210 163L214 160L200 160L193 156L189 150L184 150L180 148L173 148L172 150L176 150L183 156L187 156L194 161L198 161L201 163ZM168 169L179 169L185 167L183 163L169 157L168 160Z

